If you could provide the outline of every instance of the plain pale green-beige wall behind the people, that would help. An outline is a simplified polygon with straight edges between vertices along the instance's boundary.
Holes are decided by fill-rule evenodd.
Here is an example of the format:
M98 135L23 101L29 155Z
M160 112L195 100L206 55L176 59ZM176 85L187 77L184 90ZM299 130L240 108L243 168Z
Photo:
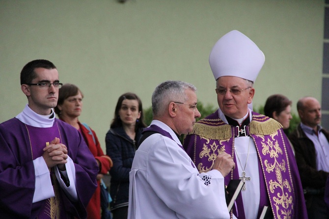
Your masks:
M19 74L48 59L60 81L84 93L82 122L103 149L117 98L136 92L143 107L154 88L182 80L198 100L217 105L208 63L215 42L237 29L266 56L253 105L281 93L321 100L324 0L0 0L0 122L27 104Z

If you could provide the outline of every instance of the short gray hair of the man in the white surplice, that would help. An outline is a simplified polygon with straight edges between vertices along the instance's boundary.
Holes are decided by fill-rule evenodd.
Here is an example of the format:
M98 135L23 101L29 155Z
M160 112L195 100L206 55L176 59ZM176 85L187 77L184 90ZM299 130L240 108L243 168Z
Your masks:
M185 90L196 91L196 87L187 82L166 81L159 84L152 94L152 112L153 116L163 115L170 102L187 101Z

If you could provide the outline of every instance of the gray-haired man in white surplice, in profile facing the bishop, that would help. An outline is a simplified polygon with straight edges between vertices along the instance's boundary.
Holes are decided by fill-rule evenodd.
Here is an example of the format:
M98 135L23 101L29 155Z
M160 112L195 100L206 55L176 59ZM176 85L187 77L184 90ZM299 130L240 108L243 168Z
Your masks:
M130 172L129 219L228 219L224 179L235 164L220 154L212 170L199 174L179 141L192 131L196 88L167 81L152 95L153 118L140 140Z

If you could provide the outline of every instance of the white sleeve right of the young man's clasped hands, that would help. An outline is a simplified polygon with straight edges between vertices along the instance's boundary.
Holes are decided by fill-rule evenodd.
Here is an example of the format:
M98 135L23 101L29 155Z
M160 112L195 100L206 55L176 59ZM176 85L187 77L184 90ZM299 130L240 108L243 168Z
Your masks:
M59 170L56 166L55 168L55 175L59 182L60 187L64 190L64 192L71 197L71 200L77 201L78 200L78 194L76 190L76 169L74 166L74 163L70 157L67 157L67 163L65 164L66 171L62 171L62 174L66 179L68 178L70 182L70 186L67 187L63 181L63 179L60 176Z

